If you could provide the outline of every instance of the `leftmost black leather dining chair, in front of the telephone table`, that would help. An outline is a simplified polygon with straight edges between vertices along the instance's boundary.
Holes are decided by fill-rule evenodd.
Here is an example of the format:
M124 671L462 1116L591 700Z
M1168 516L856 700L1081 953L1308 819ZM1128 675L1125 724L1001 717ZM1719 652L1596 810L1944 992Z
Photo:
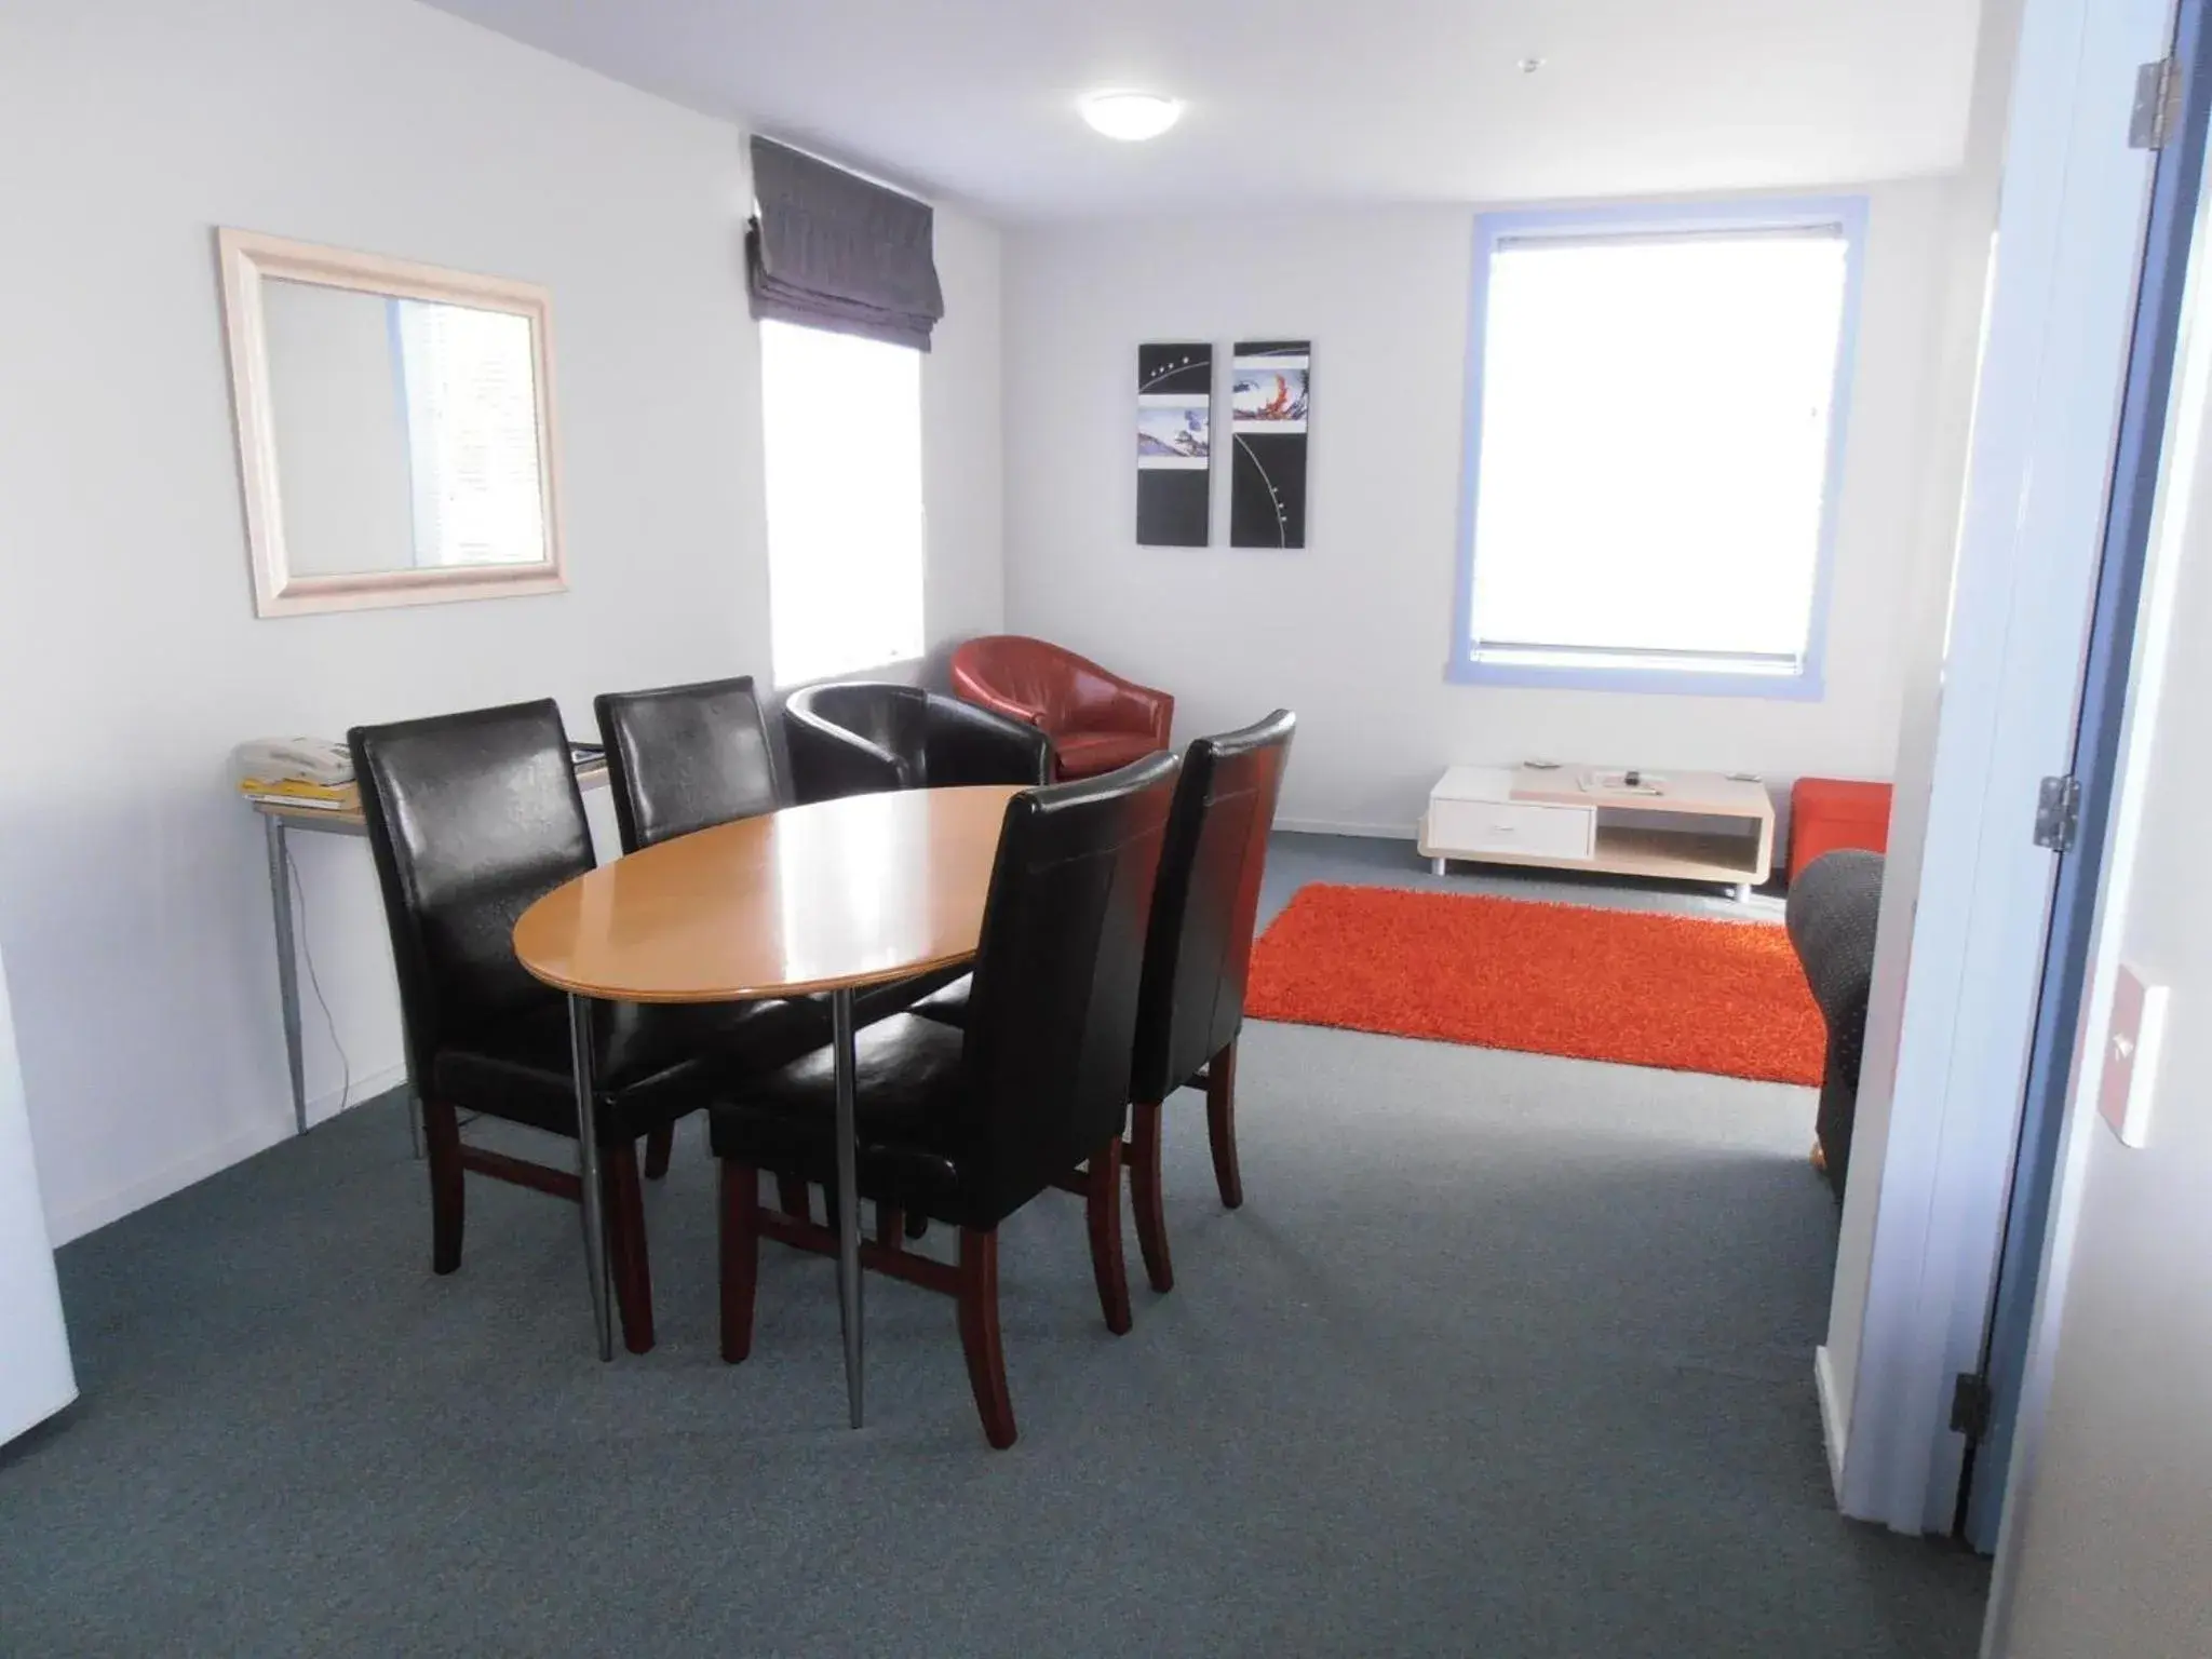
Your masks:
M460 1267L462 1175L582 1199L571 1170L460 1139L460 1113L575 1137L568 1000L515 960L540 896L593 867L560 708L515 703L347 732L398 969L407 1075L422 1102L431 1272ZM637 1139L712 1093L714 1011L593 1004L608 1259L633 1354L653 1347Z

